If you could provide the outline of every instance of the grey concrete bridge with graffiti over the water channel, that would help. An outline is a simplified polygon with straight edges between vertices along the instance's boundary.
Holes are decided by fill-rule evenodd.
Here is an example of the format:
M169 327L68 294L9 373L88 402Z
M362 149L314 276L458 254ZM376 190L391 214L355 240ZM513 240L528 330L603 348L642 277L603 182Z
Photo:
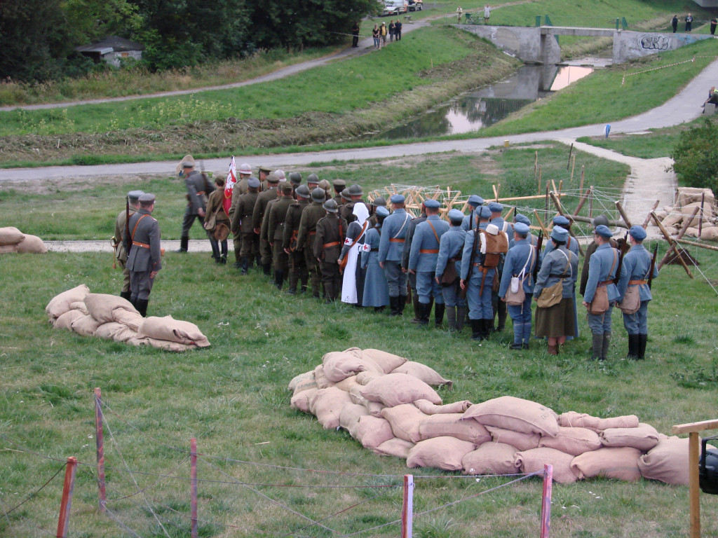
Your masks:
M526 63L544 65L561 61L559 35L581 37L612 37L613 63L623 63L643 56L678 49L701 39L713 39L709 34L667 34L664 32L628 32L606 28L572 27L505 27L488 24L455 24L457 28L488 39L496 47Z

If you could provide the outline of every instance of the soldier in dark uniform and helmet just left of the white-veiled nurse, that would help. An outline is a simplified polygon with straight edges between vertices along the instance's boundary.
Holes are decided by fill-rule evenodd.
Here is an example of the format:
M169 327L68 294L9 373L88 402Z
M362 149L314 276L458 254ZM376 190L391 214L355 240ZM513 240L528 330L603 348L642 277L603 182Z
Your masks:
M317 258L322 271L325 301L332 303L341 293L342 275L338 262L347 232L347 221L338 215L339 208L333 199L328 199L322 207L327 214L317 222L314 258Z

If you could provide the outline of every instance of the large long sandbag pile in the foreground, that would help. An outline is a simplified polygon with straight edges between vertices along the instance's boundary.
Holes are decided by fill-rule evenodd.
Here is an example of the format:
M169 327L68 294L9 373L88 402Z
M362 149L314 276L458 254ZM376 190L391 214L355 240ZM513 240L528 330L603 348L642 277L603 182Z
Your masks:
M444 404L433 387L451 384L424 364L353 347L325 354L289 390L294 409L410 468L514 474L541 472L548 463L561 483L605 476L688 484L688 440L668 438L635 415L557 415L512 396Z

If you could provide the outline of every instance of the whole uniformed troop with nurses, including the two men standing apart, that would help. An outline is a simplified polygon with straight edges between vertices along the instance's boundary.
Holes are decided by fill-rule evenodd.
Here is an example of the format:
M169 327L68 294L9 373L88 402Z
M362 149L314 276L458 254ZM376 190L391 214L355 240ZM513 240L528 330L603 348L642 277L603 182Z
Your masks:
M485 204L477 194L468 200L470 214L450 209L447 220L442 220L441 204L426 199L421 215L413 217L404 209L401 194L393 194L388 207L381 197L366 204L358 184L347 187L336 179L332 197L329 182L316 174L309 174L307 184L302 184L299 172L286 176L261 166L257 179L248 164L238 169L226 214L221 204L223 179L215 180L212 192L206 176L195 171L194 161L183 161L181 167L188 204L178 252L187 252L195 218L203 225L205 218L211 219L213 226L216 222L227 227L219 235L208 230L217 263L226 263L231 231L234 266L241 275L256 264L271 277L274 268L274 285L281 290L288 278L291 295L311 293L327 303L341 299L375 311L388 305L390 316L402 316L404 306L413 303L411 321L420 325L429 324L433 306L435 326L444 326L444 315L452 332L461 332L468 322L475 341L503 331L508 315L513 322L510 349L528 349L535 336L546 338L549 354L558 354L567 339L579 335L575 286L580 282L592 331L592 359L607 357L615 306L623 311L628 358L645 356L651 280L658 270L655 252L651 256L643 247L643 227L631 227L625 240L617 243L606 217L596 217L594 241L579 275L578 242L571 222L561 215L554 217L542 251L544 237L541 232L538 237L531 234L528 217L516 213L513 223L506 222L502 204ZM147 213L145 205L135 213L142 194L129 193L129 209L118 216L116 237L123 237L125 247L137 247L132 247L130 258L120 248L117 258L126 277L121 295L139 304L144 315L151 280L161 264L159 254L154 260L151 238L135 236L142 231L137 230L141 214ZM145 202L149 197L154 204L154 195L144 195ZM159 245L159 226L156 236ZM137 253L146 254L145 261L134 270L129 260L134 261ZM136 270L144 273L138 276ZM135 289L135 282L142 285ZM544 301L550 297L554 300ZM537 303L533 332L532 303Z

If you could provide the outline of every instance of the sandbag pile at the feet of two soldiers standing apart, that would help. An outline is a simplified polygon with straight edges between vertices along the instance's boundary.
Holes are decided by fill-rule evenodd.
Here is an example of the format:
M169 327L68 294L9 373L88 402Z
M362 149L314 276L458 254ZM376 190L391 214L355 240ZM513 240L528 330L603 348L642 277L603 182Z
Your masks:
M172 316L143 318L126 299L90 293L84 284L52 298L45 312L55 329L68 329L83 336L167 351L210 345L207 337L189 321L179 321Z

